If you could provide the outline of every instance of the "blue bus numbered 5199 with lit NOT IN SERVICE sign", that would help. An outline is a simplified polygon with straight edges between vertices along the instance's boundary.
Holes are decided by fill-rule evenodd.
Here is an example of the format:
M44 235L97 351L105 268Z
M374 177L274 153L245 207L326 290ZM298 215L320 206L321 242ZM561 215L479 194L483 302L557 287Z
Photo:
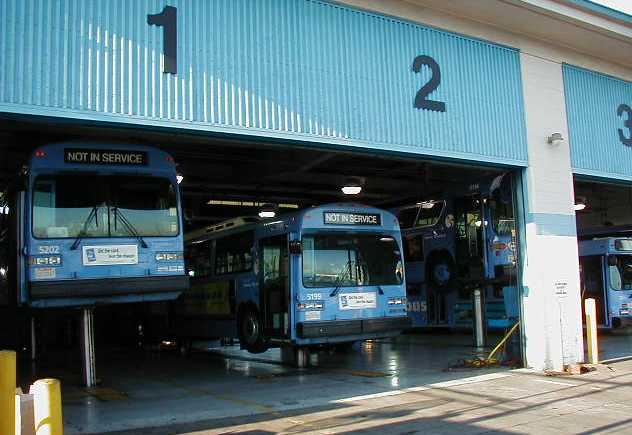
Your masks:
M395 336L409 325L401 246L395 216L355 204L203 228L185 240L178 335L252 353Z

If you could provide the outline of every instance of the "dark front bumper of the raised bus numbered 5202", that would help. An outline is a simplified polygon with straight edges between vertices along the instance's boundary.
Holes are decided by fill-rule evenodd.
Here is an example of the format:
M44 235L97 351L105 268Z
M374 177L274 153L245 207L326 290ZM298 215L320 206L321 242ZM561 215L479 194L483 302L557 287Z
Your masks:
M133 278L34 281L31 301L58 298L94 298L182 292L189 288L189 277L152 276Z

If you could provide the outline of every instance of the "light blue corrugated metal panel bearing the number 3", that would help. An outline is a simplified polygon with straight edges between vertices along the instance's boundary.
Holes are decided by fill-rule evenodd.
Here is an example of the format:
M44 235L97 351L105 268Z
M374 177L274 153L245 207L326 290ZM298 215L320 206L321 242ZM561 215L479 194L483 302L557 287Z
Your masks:
M632 106L632 83L582 68L564 65L564 92L571 147L577 174L632 180L632 147L619 139L632 131L621 104Z

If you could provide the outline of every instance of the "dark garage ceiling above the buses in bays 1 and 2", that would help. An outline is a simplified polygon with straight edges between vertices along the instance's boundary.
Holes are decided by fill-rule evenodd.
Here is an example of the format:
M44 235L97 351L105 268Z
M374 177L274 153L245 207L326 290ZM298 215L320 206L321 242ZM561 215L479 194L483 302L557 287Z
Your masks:
M0 120L0 183L12 179L37 146L86 139L143 143L171 153L184 176L181 191L185 216L194 226L257 211L252 207L209 205L211 199L299 207L353 200L389 208L432 199L449 187L466 188L500 171L314 144L4 119ZM340 191L350 177L364 184L362 193L352 198Z

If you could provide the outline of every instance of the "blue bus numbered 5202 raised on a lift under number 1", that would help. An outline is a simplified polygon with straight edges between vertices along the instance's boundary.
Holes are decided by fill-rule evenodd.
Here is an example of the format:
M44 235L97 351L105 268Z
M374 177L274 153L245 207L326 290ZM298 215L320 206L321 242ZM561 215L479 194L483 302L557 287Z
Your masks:
M33 308L158 301L188 287L176 167L163 151L41 146L0 199L5 301Z

